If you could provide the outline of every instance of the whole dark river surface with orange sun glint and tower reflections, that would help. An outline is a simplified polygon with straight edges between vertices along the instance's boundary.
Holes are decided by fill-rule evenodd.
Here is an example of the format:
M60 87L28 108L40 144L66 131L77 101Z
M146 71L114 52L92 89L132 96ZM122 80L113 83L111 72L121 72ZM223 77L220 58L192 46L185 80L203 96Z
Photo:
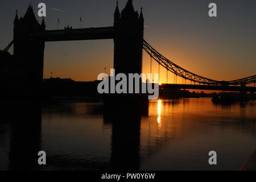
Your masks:
M0 169L238 170L256 149L255 111L255 101L210 98L152 101L143 114L102 102L13 102L1 113Z

